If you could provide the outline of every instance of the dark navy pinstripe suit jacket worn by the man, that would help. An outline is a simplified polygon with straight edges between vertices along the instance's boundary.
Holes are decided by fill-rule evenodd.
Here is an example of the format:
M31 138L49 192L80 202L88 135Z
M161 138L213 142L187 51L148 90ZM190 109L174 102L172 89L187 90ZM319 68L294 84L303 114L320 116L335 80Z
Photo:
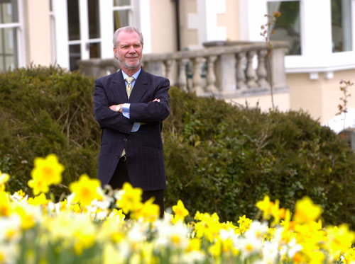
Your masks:
M95 81L94 114L102 128L98 176L102 185L111 180L122 150L133 187L160 190L166 187L162 121L170 113L169 80L141 69L130 98L121 70ZM153 102L159 98L160 102ZM130 119L109 109L109 105L131 103ZM133 122L144 122L131 132Z

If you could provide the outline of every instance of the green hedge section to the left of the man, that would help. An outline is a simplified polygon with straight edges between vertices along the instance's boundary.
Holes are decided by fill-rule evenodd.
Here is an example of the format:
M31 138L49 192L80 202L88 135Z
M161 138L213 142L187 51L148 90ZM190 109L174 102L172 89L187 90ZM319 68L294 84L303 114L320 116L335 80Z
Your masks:
M99 126L92 112L93 80L58 67L16 69L0 76L0 169L10 190L25 190L36 156L57 154L65 191L81 173L96 175Z

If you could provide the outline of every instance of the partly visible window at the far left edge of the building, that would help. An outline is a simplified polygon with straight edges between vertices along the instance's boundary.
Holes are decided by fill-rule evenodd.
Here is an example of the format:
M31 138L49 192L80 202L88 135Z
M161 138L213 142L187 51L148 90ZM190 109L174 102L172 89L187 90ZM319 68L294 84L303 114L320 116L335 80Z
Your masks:
M0 1L0 71L18 67L18 3Z

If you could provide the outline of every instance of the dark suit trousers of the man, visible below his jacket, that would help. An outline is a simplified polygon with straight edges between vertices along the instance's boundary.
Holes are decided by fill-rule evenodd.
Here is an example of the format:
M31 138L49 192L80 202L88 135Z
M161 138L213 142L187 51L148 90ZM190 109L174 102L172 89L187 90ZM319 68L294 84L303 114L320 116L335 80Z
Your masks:
M126 166L126 156L121 156L119 163L116 166L114 175L112 176L109 185L113 189L121 189L124 183L129 181L129 173ZM147 190L142 193L142 202L146 202L151 197L154 197L155 205L159 205L160 217L164 216L164 190Z

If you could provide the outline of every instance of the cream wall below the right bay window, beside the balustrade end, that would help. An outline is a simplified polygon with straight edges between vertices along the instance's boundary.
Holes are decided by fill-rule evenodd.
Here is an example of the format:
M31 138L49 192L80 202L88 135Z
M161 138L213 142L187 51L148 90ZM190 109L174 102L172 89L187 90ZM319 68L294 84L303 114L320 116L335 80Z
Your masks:
M342 92L339 82L355 81L355 70L334 71L332 79L326 79L324 74L319 79L310 80L310 74L286 74L286 83L290 87L290 108L292 110L305 110L314 119L321 123L334 117L341 103ZM348 108L355 108L355 86L349 88Z

